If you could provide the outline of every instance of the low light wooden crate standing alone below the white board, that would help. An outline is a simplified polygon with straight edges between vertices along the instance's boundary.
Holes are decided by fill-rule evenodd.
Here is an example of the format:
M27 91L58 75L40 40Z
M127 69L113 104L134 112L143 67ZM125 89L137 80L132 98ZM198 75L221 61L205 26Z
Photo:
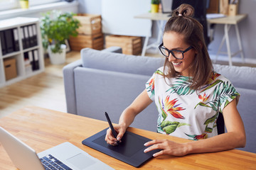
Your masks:
M105 38L106 47L122 47L126 55L139 55L142 52L142 38L124 35L107 35Z

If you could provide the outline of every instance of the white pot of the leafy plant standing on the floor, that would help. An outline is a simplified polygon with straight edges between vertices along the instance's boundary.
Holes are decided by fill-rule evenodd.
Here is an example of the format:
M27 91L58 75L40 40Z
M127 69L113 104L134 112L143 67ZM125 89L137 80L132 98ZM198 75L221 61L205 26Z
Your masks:
M49 45L48 46L48 54L50 57L50 62L51 64L63 64L65 63L65 49L66 49L66 45L61 45L60 48L62 49L62 52L57 52L57 53L53 53L50 50L50 47L54 47L54 45Z

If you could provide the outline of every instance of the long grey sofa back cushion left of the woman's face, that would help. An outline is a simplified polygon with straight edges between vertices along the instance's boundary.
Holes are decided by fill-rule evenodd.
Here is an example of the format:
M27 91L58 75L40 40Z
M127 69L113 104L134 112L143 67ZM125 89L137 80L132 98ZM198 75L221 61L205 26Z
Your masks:
M85 48L81 50L82 67L151 76L164 65L164 58L123 55ZM111 66L111 67L110 67Z

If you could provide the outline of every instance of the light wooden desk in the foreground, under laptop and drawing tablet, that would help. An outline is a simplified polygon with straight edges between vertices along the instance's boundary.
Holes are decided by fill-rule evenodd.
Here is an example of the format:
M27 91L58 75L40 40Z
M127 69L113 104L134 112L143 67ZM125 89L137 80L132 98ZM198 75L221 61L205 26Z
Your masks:
M42 152L45 149L68 141L85 150L92 157L109 164L114 169L137 169L82 145L82 140L107 128L107 122L51 111L45 108L27 107L1 118L0 125L31 146L36 152ZM151 139L166 138L176 142L188 141L136 128L129 128L129 131ZM255 169L255 167L256 154L232 149L225 152L190 154L186 157L157 157L146 162L139 169ZM16 169L1 145L0 169Z

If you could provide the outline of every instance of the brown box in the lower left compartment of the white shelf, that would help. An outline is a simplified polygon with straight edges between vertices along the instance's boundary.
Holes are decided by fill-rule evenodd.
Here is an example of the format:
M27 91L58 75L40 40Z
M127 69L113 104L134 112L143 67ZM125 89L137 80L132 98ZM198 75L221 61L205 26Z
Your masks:
M4 72L5 72L5 76L6 76L6 81L17 77L15 58L10 58L10 59L4 60Z

